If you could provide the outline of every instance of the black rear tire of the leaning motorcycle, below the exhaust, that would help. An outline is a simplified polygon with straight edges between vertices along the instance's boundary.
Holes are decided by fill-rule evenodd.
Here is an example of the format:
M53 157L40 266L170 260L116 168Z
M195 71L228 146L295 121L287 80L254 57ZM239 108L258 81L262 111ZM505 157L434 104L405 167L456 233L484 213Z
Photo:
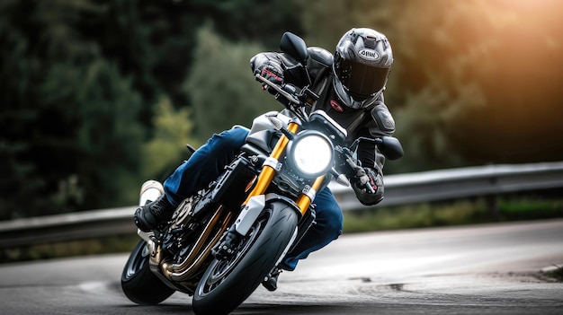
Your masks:
M140 305L156 305L175 292L150 271L148 255L147 242L139 241L121 273L123 293Z

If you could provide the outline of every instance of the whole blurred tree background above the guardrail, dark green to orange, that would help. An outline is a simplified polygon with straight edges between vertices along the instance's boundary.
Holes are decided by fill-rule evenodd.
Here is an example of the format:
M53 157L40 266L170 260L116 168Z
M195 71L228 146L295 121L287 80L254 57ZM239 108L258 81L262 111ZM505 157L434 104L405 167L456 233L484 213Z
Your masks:
M4 0L0 220L136 202L184 144L278 109L248 61L283 31L388 35L386 173L563 156L557 0Z

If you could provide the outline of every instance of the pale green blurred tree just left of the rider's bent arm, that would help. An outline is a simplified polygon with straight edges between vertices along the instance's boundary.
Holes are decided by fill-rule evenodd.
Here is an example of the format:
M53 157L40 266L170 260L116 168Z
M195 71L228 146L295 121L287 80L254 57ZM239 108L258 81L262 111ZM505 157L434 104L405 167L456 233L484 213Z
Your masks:
M262 91L250 71L250 58L263 50L221 39L210 26L198 32L185 89L191 96L196 135L201 139L233 125L250 127L256 116L282 109L272 95Z

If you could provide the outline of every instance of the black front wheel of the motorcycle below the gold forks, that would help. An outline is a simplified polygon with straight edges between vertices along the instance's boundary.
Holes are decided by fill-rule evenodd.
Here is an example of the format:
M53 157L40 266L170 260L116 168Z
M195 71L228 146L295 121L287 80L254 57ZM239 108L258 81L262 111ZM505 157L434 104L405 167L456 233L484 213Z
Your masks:
M285 203L267 205L229 259L214 259L193 294L198 315L228 314L252 294L296 235L298 214Z

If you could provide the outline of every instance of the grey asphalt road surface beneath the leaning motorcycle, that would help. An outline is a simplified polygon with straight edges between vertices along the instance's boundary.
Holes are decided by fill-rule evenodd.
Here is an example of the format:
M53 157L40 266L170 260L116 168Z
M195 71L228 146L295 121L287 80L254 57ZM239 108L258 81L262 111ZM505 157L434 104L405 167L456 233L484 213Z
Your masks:
M127 254L0 265L0 314L192 314L121 293ZM233 314L563 314L563 220L344 235Z

